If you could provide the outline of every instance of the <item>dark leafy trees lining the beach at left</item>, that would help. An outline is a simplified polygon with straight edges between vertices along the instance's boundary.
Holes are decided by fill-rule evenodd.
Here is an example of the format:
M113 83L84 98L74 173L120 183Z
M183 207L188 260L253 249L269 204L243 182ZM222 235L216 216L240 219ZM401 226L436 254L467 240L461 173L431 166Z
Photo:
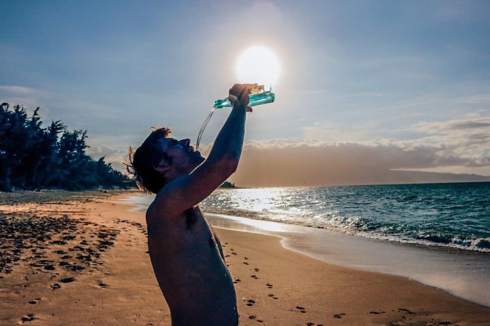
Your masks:
M0 105L0 191L135 186L104 157L85 153L87 131L70 132L60 120L43 128L38 111L29 117L22 106Z

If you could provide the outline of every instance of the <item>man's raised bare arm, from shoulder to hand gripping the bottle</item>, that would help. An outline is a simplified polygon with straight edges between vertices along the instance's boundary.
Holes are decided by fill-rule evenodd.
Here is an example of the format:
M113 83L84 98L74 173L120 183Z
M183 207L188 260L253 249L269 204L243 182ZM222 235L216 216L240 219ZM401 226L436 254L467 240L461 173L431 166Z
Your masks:
M235 84L229 91L233 103L228 119L221 128L208 158L191 174L170 181L160 190L151 210L165 210L176 216L187 210L221 186L236 171L245 135L245 113L251 84Z

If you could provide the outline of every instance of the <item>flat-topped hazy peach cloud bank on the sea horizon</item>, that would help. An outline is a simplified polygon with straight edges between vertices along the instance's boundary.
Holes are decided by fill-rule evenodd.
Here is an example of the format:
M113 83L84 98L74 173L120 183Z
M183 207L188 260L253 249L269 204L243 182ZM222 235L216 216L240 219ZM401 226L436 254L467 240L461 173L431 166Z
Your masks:
M401 182L396 169L490 166L481 157L460 157L440 144L417 141L252 141L244 145L237 172L240 186L322 186ZM420 182L420 180L418 181Z

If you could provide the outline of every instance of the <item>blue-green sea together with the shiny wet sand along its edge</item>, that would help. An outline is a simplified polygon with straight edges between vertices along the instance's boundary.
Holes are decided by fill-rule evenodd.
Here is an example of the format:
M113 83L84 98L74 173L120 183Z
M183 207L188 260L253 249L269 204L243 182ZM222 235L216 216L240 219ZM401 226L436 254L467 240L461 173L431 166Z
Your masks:
M153 199L123 201L144 212ZM490 183L218 189L200 207L214 227L490 306Z

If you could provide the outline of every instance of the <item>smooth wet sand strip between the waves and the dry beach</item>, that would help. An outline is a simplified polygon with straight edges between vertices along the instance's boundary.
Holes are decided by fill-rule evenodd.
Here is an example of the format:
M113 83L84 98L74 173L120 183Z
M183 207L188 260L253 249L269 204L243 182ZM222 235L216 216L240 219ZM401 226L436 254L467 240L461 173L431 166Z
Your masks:
M135 211L150 197L128 196ZM339 266L395 275L441 289L472 303L490 306L490 254L453 247L387 241L328 229L209 213L214 227L279 235L285 249Z

